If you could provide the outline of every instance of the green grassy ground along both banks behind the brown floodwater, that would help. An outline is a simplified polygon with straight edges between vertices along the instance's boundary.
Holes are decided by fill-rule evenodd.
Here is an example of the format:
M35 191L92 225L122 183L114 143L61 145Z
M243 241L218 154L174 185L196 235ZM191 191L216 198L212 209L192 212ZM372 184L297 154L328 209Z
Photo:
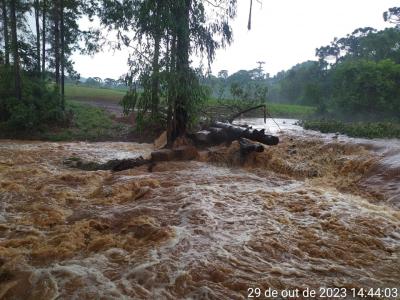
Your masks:
M139 132L134 118L124 117L119 105L124 91L118 89L95 88L67 85L67 109L72 112L71 123L65 126L47 126L31 132L10 132L1 130L0 138L36 139L49 141L139 141L151 142L157 132ZM223 102L209 99L203 113L221 118L232 115L229 105L232 100ZM315 108L311 106L267 103L268 116L273 118L294 118L303 120L299 124L305 129L322 133L341 133L351 137L400 138L400 124L396 122L354 122L337 120L315 120ZM262 109L246 114L247 118L262 117Z

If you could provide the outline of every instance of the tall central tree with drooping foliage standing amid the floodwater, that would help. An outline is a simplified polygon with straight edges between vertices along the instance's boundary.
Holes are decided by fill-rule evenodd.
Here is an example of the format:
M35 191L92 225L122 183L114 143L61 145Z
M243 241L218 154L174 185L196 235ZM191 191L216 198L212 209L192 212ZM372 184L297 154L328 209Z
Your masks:
M150 107L158 113L159 95L165 92L169 141L184 135L204 95L190 66L190 55L196 51L211 62L216 49L230 43L229 20L236 14L236 0L100 2L101 23L118 31L115 47L122 44L134 51L136 60L129 62L131 69L141 73L144 92L137 97L142 111ZM144 50L138 46L143 44Z

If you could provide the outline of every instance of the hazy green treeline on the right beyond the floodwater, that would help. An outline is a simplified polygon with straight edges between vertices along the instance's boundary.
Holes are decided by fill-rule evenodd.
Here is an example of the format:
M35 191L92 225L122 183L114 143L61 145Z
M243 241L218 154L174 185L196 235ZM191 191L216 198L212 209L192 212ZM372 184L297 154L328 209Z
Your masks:
M392 15L393 16L393 15ZM393 18L391 19L393 20ZM204 83L215 98L234 98L234 86L262 86L268 101L313 105L320 113L352 117L400 116L400 28L360 28L316 49L306 61L273 77L261 68L230 76L221 71Z

